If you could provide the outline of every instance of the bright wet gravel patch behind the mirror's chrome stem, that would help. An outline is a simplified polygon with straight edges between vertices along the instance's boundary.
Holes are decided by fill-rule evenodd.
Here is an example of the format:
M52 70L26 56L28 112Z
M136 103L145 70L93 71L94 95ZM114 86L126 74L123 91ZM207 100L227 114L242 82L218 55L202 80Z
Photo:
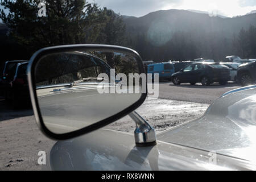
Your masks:
M136 111L156 129L156 133L159 133L170 127L199 118L208 106L208 104L195 102L148 98ZM106 128L133 133L135 123L129 116L126 116Z

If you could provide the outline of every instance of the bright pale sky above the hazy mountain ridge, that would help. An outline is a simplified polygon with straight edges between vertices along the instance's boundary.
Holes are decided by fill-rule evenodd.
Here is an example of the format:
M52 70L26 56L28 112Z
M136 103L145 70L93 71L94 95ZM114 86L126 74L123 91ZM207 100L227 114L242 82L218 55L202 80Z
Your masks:
M143 16L152 11L184 9L237 16L256 10L256 0L88 0L121 15Z

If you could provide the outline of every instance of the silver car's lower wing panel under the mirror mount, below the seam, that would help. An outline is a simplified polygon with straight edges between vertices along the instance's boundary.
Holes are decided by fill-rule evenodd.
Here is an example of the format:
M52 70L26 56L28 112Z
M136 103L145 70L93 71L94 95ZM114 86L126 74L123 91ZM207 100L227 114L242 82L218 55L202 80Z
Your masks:
M214 154L158 140L156 146L135 146L133 134L97 130L82 137L60 141L52 147L47 167L51 170L170 171L255 170L241 159Z

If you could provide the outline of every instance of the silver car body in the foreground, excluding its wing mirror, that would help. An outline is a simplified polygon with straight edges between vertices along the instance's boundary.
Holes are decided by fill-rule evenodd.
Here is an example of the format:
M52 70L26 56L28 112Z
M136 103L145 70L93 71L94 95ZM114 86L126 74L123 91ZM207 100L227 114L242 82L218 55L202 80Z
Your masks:
M53 170L256 169L256 86L218 98L198 119L136 147L133 134L101 129L52 147Z

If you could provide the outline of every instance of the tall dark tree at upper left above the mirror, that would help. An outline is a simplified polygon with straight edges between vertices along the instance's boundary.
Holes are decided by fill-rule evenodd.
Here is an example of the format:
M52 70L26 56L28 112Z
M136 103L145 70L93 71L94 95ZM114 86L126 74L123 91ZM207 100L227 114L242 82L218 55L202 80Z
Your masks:
M46 17L39 17L39 3L38 0L1 1L10 10L8 15L2 10L0 18L10 28L11 36L31 51L82 42L88 23L86 14L92 13L96 6L84 0L46 1Z

